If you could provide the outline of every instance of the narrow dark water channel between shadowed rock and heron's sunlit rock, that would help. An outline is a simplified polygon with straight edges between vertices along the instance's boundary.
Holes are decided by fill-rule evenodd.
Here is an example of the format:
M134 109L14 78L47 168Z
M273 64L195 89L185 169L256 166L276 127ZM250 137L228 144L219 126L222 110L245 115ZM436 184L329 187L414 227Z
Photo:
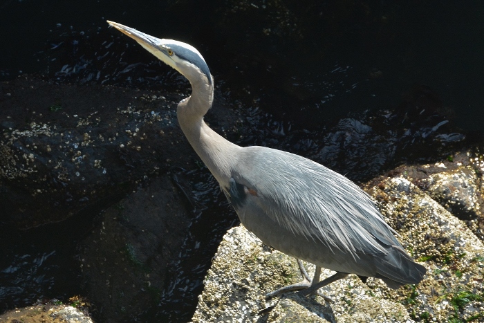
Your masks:
M187 194L192 196L196 216L189 225L178 261L171 265L171 277L159 305L141 315L140 322L189 322L196 308L195 300L202 293L210 259L223 234L240 223L208 169L181 171L174 179L190 183L193 188Z

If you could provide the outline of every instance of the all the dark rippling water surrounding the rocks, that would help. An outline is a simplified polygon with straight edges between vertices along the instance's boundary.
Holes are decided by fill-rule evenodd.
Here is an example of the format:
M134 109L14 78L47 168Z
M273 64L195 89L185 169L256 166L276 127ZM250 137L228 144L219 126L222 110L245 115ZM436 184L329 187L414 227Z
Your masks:
M54 82L187 88L178 73L107 28L106 19L118 21L196 46L215 76L217 97L239 100L254 124L242 145L290 150L363 180L428 145L442 152L484 124L484 3L373 2L287 1L289 10L314 12L310 23L300 21L304 37L292 39L263 37L265 26L256 16L241 21L239 30L223 28L223 1L3 1L0 80L35 73ZM423 121L405 124L406 112L394 109L420 84L450 112L434 118L420 107ZM375 109L389 112L364 112ZM345 151L355 154L348 158ZM425 159L425 151L419 154ZM207 172L185 176L194 184L199 215L160 306L143 320L191 316L208 266L194 264L191 256L203 248L210 259L217 239L236 223ZM0 311L82 293L72 256L86 232L79 224L28 232L0 228Z

